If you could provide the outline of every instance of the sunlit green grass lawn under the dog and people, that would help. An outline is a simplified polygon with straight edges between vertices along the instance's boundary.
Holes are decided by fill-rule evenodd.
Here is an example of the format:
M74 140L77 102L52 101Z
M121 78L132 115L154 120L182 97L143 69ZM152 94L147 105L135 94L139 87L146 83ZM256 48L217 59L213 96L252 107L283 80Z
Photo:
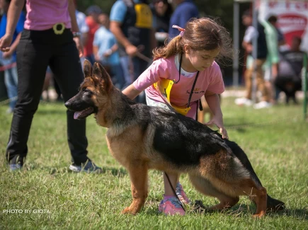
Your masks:
M253 219L255 207L241 197L225 213L188 211L185 217L165 217L158 214L162 175L151 171L142 211L136 216L120 214L131 202L130 178L110 156L105 128L96 125L92 116L87 119L89 157L103 167L102 174L68 170L65 108L57 103L39 106L25 166L10 173L4 153L11 115L1 106L0 229L308 229L308 123L302 119L302 105L253 110L236 107L233 101L222 100L229 137L246 151L268 194L285 202L285 211ZM181 176L181 183L191 200L217 204L196 192L187 176ZM8 209L21 213L7 213Z

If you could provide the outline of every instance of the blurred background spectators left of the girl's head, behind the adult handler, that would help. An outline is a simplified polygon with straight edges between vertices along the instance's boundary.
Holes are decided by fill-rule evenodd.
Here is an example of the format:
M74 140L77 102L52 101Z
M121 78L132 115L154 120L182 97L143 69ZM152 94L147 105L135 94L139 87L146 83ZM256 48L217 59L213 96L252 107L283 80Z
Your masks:
M6 15L10 2L0 0L0 37L6 33ZM110 12L94 5L81 12L78 10L77 1L74 1L74 4L81 45L84 47L80 58L81 66L85 59L91 64L100 62L110 74L113 84L121 90L132 84L149 67L154 48L164 45L168 38L178 35L178 30L172 28L171 24L185 27L190 18L199 16L198 8L190 0L118 0ZM0 71L4 71L7 95L11 98L7 113L13 113L16 105L16 47L24 23L25 12L22 12L11 50L1 52ZM63 100L55 79L54 73L47 67L41 100ZM50 88L54 90L50 91ZM140 95L137 101L144 103L144 95Z

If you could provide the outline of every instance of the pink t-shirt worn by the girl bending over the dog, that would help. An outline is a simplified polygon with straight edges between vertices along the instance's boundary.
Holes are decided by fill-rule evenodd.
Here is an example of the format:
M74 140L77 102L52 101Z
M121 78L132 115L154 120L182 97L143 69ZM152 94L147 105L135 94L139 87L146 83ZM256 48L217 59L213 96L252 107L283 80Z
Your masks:
M159 79L176 79L176 81L178 81L178 69L176 69L174 58L175 56L172 56L154 61L134 82L135 88L137 88L138 91L145 90L147 97L150 99L165 103L164 98L161 98L153 84L159 81ZM193 81L195 81L195 76L188 78L181 75L180 81L172 86L170 96L171 103L180 107L188 105L188 98L191 88L193 87ZM222 72L216 62L213 62L211 67L200 71L190 100L191 112L196 110L197 101L205 94L205 91L211 91L217 94L224 92ZM188 117L190 117L189 113L187 115Z

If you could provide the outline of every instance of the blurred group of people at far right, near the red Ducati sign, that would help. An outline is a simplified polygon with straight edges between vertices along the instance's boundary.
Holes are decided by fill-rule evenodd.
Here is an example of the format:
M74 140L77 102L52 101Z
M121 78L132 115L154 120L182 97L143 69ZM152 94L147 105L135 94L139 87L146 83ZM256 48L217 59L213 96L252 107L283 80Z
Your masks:
M302 89L305 52L300 50L300 37L294 36L292 44L286 44L277 21L277 16L270 15L266 21L257 21L253 25L250 10L242 15L242 23L246 26L242 42L246 52L246 96L236 98L236 105L269 108L278 103L281 92L285 93L285 103L290 100L297 103L296 92ZM253 79L256 79L256 84L253 84Z

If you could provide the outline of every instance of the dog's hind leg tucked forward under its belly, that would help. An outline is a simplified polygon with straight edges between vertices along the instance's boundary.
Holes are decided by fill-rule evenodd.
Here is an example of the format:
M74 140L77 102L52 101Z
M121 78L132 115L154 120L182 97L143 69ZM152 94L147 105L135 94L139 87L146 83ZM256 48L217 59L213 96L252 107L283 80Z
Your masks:
M237 202L239 202L238 196L231 197L229 195L224 194L224 192L220 192L219 190L217 190L217 188L215 188L212 185L212 183L210 183L209 180L202 178L201 176L190 175L190 181L191 183L193 183L195 188L198 191L202 192L204 195L217 197L217 199L219 200L220 203L218 205L214 205L207 209L224 210L233 207L234 205L236 205Z

